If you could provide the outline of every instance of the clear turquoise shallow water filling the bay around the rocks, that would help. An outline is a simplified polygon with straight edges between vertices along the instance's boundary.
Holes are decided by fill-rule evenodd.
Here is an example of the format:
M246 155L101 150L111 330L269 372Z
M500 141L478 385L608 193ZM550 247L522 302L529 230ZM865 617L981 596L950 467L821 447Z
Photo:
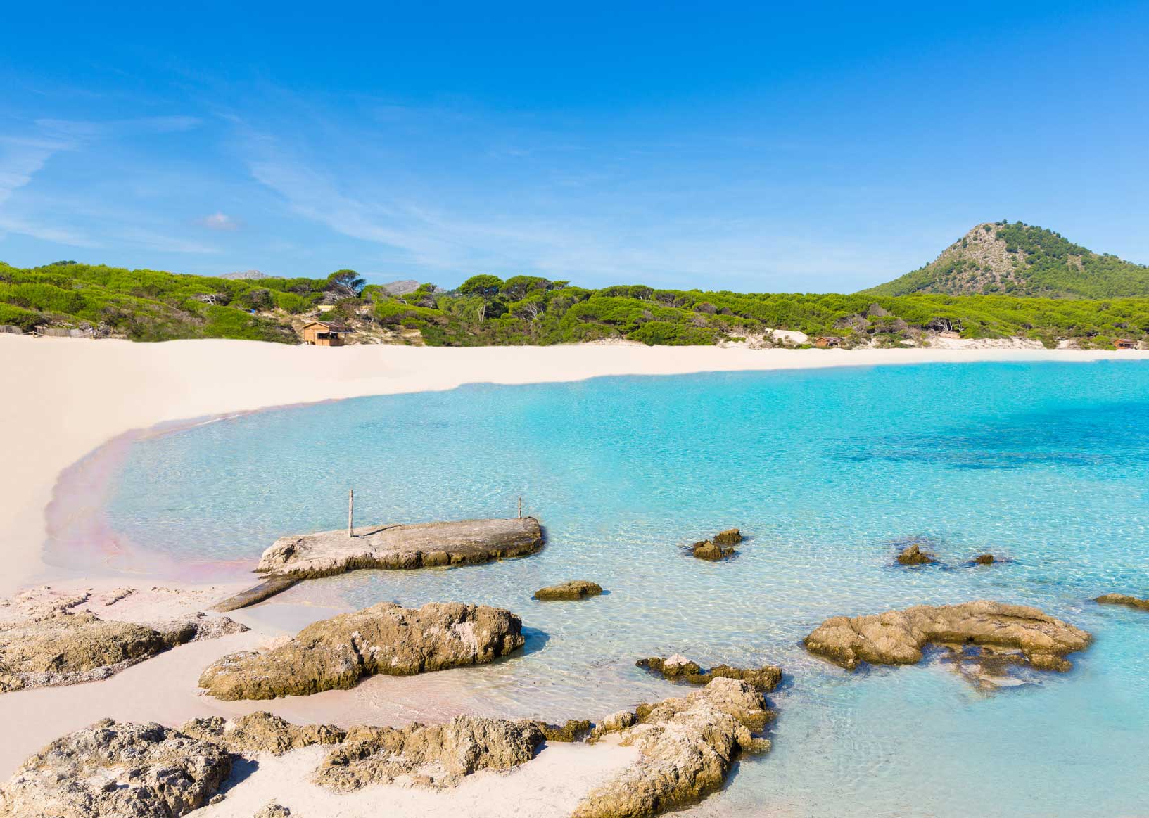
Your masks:
M488 712L595 717L685 692L633 666L647 655L781 665L774 750L697 815L1117 816L1149 812L1149 615L1088 600L1149 594L1147 478L1149 365L932 364L268 411L133 445L106 510L133 542L201 562L344 525L352 485L363 523L509 516L522 495L547 528L535 556L287 597L510 608L524 656L435 674ZM737 560L681 550L730 526L748 535ZM949 566L894 568L909 539ZM963 564L986 550L1011 562ZM531 600L571 578L609 594ZM1096 643L992 696L936 663L849 674L799 647L827 616L982 597Z

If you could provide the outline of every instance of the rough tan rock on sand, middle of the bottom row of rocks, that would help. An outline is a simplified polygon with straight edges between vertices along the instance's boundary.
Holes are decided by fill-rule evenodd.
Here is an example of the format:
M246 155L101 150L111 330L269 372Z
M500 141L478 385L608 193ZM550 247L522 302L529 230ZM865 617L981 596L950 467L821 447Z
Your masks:
M545 740L533 721L456 716L447 724L355 727L315 773L317 784L349 793L398 779L454 786L478 770L507 770L534 757Z

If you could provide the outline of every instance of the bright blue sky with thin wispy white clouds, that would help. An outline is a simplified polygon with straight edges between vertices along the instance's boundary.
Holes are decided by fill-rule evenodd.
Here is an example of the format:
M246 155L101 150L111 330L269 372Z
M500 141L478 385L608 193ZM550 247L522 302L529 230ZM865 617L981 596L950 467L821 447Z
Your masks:
M0 260L854 291L1149 262L1149 3L5 11Z

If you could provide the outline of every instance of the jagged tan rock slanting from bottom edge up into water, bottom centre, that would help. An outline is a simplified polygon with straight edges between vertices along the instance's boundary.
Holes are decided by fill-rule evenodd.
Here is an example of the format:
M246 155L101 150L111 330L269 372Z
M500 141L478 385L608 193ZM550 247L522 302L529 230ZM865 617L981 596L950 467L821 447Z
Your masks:
M591 790L573 818L651 816L697 801L722 787L739 751L770 749L754 733L772 713L745 681L715 679L632 716L637 724L622 728L620 742L638 747L638 761Z

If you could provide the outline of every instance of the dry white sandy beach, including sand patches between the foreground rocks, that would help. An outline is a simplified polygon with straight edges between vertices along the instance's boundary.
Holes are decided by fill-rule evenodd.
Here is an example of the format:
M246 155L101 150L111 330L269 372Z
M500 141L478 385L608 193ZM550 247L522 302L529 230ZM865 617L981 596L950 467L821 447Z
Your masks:
M635 345L329 349L224 340L153 345L0 335L0 377L5 385L0 420L6 431L7 455L0 469L0 496L5 497L0 506L0 548L5 561L5 571L0 572L0 596L44 584L110 587L125 582L122 577L78 577L45 564L40 555L46 537L45 508L63 470L116 435L156 424L292 403L447 389L466 383L524 384L612 375L928 362L1146 357L1149 352L754 350ZM195 679L207 663L283 631L275 623L261 619L259 609L238 614L236 618L249 624L253 631L176 648L105 681L0 696L0 724L5 725L6 734L0 747L0 780L6 780L24 757L47 741L105 716L159 720L168 725L194 716L226 716L259 709L273 710L296 723L348 724L361 717L364 693L358 689L279 700L271 707L254 702L222 703L199 696ZM427 697L425 712L379 708L380 697L377 696L370 705L376 708L377 723L410 720L416 716L435 720L462 711L458 708L465 707L465 696L457 695L462 692L456 682L461 677L454 672L434 676L442 678L427 686L435 695ZM386 679L375 684L409 685L411 680ZM453 701L454 707L444 705L446 701ZM488 803L488 796L506 807L517 794L522 803L525 794L541 786L543 780L554 789L557 801L573 803L591 786L594 774L625 764L630 757L622 750L596 756L584 749L548 750L540 756L540 762L548 753L552 761L531 773L491 775L486 782L469 782L468 787L460 787L450 795L396 794L391 803L395 815L478 815L472 807L477 809L480 802ZM239 798L231 804L225 801L203 815L250 815L255 807L267 801L268 793L277 789L280 794L298 796L301 815L319 815L310 809L313 804L322 807L323 815L337 815L323 807L317 788L300 780L295 770L303 762L269 762L265 769L261 767L262 773L252 775L237 788L237 796L244 796L241 804ZM290 786L293 781L294 786ZM282 797L294 807L287 795ZM348 801L342 803L338 815L376 815L386 803L380 797L362 798L362 804ZM491 813L498 811L492 808ZM529 807L515 811L522 816L554 813L545 797L531 798Z

